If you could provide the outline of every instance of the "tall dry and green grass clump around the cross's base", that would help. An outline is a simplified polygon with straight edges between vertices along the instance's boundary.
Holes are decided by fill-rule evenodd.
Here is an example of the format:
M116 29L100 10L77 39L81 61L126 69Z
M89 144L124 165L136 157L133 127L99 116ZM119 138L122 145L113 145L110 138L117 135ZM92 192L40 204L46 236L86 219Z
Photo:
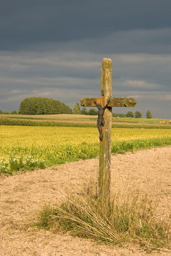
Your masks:
M137 191L122 191L104 206L93 194L71 193L62 204L46 205L39 212L38 226L72 235L94 238L98 243L126 247L169 248L170 221L156 219L157 203Z

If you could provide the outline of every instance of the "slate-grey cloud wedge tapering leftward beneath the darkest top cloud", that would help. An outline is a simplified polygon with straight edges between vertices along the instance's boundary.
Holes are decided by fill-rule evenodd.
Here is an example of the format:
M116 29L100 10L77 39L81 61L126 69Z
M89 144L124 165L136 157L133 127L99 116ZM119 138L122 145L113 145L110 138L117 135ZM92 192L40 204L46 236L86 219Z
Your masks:
M150 53L171 54L171 28L129 30L111 33L98 38L78 41L34 45L36 51L47 49L84 51L96 54ZM31 48L32 49L32 46Z

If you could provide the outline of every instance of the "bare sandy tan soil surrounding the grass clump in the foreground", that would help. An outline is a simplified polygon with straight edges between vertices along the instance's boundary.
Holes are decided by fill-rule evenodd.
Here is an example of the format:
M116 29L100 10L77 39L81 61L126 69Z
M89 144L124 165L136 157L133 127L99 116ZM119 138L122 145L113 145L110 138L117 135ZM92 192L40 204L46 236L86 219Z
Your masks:
M0 177L0 254L7 255L80 255L144 256L138 247L128 249L97 245L93 240L54 234L44 229L27 228L35 221L44 204L62 200L64 189L83 186L96 179L98 159L80 160L34 172ZM111 183L140 188L152 197L161 196L158 217L168 219L171 210L171 147L142 150L112 156ZM171 251L150 255L171 255Z

